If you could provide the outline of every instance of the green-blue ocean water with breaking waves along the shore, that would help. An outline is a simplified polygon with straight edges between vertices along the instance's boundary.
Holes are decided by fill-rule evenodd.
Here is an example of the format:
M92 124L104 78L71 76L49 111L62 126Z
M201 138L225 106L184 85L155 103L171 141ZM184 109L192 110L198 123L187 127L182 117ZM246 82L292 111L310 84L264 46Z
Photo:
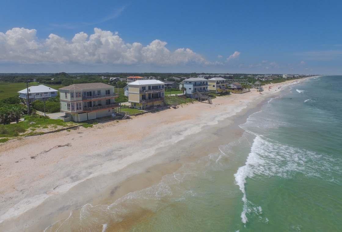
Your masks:
M291 85L217 152L45 231L342 231L341 86L342 76Z

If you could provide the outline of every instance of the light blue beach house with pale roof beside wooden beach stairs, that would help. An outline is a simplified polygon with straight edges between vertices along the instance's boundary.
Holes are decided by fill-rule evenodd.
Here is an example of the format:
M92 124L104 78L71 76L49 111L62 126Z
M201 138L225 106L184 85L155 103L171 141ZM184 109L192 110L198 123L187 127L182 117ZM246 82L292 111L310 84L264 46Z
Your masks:
M185 95L187 97L198 98L197 91L202 95L209 93L208 80L201 77L184 80L184 87L186 88Z

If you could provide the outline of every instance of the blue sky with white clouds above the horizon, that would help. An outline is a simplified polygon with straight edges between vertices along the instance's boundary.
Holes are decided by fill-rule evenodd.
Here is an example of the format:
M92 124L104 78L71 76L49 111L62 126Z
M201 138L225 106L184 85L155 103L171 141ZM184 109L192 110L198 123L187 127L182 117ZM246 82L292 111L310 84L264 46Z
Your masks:
M3 0L0 73L342 74L340 0Z

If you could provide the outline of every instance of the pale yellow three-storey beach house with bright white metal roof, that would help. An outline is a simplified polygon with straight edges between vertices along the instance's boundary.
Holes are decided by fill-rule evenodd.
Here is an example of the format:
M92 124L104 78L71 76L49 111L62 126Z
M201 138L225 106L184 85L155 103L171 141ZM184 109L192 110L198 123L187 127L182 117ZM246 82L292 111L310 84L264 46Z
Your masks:
M146 109L164 104L165 84L159 80L137 80L128 85L128 102L135 109Z

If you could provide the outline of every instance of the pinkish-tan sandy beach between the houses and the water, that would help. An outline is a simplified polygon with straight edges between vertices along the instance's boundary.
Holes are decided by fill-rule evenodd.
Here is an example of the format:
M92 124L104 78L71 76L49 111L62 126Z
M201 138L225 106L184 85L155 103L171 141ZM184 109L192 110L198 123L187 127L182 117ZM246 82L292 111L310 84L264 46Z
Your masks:
M43 231L63 221L75 208L110 204L154 185L183 163L217 150L217 146L207 146L220 144L205 133L210 126L223 119L232 123L302 80L269 84L262 94L251 89L217 97L212 105L196 102L93 128L0 144L0 228ZM240 135L238 130L232 132L232 139ZM189 147L194 148L193 153L188 152Z

